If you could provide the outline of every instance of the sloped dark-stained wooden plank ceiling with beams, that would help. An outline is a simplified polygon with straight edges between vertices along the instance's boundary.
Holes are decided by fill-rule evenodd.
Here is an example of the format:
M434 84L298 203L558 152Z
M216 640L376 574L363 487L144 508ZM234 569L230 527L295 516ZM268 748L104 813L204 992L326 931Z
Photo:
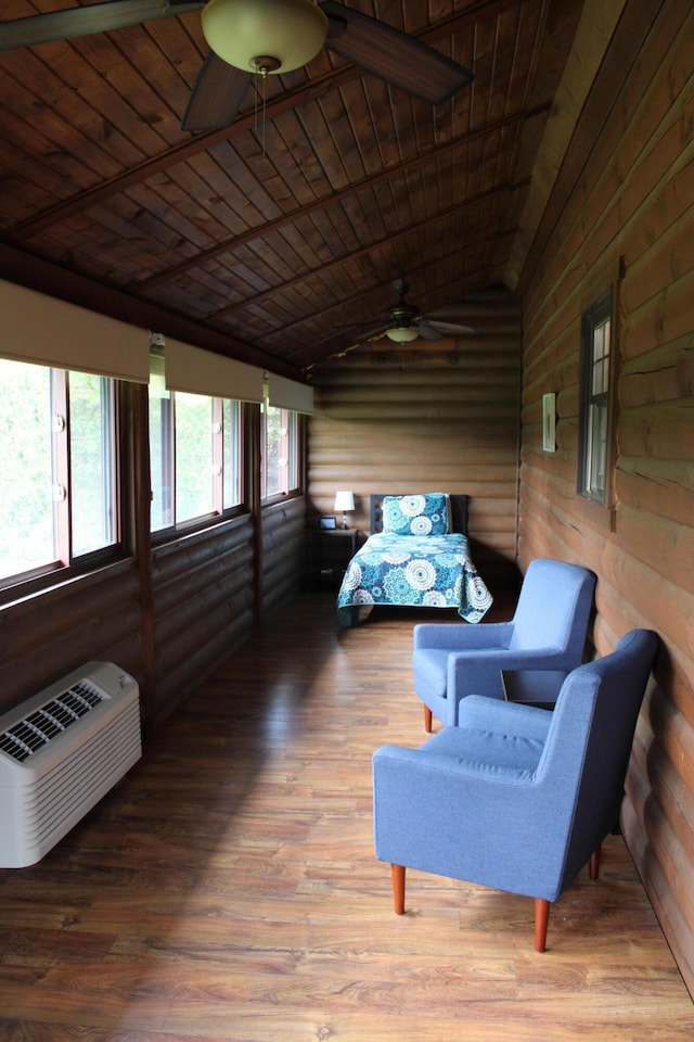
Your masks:
M299 376L380 328L398 278L464 321L503 281L582 2L346 5L472 85L434 107L323 50L191 134L200 12L0 54L0 274Z

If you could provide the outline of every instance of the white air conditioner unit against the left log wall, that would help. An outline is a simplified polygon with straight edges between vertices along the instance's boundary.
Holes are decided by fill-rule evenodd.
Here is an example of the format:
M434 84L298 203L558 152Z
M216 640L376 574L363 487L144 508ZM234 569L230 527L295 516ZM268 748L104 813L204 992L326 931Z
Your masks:
M113 662L0 716L0 868L39 861L141 755L140 691Z

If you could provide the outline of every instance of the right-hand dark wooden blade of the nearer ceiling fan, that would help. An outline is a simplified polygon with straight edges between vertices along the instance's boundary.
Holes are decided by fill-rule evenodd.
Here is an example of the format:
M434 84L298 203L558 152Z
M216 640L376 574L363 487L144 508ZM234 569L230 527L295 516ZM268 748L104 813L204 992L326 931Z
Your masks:
M457 94L472 73L415 37L334 0L319 7L327 15L325 47L387 84L436 105Z

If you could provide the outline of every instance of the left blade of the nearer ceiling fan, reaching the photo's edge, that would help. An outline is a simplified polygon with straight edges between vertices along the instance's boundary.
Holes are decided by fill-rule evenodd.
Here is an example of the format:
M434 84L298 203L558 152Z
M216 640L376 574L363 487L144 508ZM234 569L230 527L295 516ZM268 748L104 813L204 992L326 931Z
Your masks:
M155 18L168 18L172 14L198 11L204 5L205 0L105 0L85 8L31 14L0 22L0 51L107 33Z

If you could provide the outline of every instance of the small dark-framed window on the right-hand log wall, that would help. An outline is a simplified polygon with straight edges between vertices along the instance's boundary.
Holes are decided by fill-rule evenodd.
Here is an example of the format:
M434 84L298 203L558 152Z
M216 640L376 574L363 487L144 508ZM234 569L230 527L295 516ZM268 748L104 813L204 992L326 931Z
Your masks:
M612 382L613 292L600 297L582 316L578 492L608 506Z

